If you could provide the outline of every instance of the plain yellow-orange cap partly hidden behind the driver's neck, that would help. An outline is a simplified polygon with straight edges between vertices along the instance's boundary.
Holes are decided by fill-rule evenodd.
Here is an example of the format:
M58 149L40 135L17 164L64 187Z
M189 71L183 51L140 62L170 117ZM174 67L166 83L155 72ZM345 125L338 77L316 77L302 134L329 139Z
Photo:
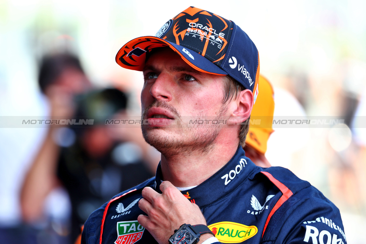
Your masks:
M253 105L250 118L260 119L260 124L250 124L245 144L264 154L267 150L268 138L274 131L272 129L272 120L275 101L273 100L272 85L262 75L259 75L258 85L261 92L257 96L257 102Z

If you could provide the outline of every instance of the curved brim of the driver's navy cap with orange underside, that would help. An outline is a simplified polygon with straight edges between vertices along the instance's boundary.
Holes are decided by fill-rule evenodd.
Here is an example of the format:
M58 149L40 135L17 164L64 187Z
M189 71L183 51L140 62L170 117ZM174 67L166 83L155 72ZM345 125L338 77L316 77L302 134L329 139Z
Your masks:
M174 52L178 53L188 65L200 72L214 75L228 74L201 54L196 53L187 47L152 36L135 38L126 43L118 51L116 62L123 68L142 71L145 66L146 54L157 47L170 47Z

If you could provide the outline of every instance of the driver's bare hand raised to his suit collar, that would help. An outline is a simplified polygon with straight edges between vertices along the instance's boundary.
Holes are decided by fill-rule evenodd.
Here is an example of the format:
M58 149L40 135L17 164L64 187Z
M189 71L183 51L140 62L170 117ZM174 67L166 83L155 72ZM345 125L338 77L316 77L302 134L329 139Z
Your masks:
M137 220L145 227L160 244L167 244L175 229L182 224L203 224L206 220L195 203L191 203L184 195L168 181L160 184L159 194L151 187L142 190L142 199L138 202L139 208L147 216L140 215ZM200 242L212 237L203 234Z

